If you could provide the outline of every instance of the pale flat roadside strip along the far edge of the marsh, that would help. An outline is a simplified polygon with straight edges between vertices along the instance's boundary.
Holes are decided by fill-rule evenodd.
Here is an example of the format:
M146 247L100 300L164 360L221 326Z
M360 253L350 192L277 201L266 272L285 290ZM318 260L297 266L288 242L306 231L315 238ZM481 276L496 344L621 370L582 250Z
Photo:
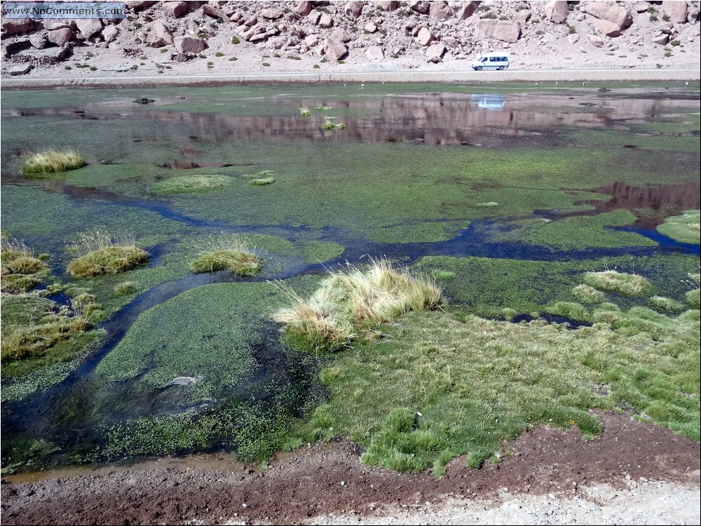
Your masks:
M512 69L504 72L466 70L397 70L374 72L273 72L236 74L189 74L172 76L114 75L82 79L69 77L3 79L3 89L104 88L150 86L226 86L231 84L298 84L348 82L683 82L701 80L700 69Z

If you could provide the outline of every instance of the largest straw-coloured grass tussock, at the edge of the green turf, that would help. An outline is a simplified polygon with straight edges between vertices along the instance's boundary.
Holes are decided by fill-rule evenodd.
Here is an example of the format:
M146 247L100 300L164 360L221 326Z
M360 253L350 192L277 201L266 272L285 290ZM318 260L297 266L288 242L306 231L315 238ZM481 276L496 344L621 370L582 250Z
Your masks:
M443 301L433 281L394 269L384 259L373 260L367 269L348 264L322 281L309 299L285 285L280 288L292 305L277 311L273 319L285 323L294 346L322 351L369 338L380 323L409 311L436 309Z

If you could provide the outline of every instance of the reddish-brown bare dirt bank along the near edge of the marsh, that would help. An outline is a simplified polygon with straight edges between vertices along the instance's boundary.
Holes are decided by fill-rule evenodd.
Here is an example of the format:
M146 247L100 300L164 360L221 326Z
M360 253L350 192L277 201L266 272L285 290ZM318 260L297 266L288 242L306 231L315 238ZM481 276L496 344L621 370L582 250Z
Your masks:
M669 511L680 506L674 494L689 490L696 508L688 500L681 505L691 520L697 520L699 443L669 429L640 424L629 416L604 414L601 418L604 432L599 440L587 442L577 429L563 433L538 427L505 444L503 450L510 454L501 464L473 470L464 459L456 459L440 480L428 473L409 476L369 468L360 464L357 447L347 442L314 444L281 454L264 469L215 454L164 459L131 468L101 468L81 476L51 478L48 473L44 480L25 483L19 482L21 478L8 478L1 486L2 521L6 525L289 524L329 513L333 517L351 515L353 522L385 513L380 520L391 522L386 513L395 508L416 511L418 504L430 501L444 502L452 509L455 499L465 506L484 506L484 499L503 501L504 492L520 499L547 495L543 497L546 504L553 499L556 504L557 499L583 499L580 501L593 501L598 506L596 492L601 484L614 490L635 490L639 485L649 487L651 481L674 483L669 486L672 490L665 490ZM624 494L615 493L615 497L625 501ZM665 511L656 509L658 514ZM509 516L518 520L513 515L499 516L499 520L508 521ZM431 520L421 517L422 521Z

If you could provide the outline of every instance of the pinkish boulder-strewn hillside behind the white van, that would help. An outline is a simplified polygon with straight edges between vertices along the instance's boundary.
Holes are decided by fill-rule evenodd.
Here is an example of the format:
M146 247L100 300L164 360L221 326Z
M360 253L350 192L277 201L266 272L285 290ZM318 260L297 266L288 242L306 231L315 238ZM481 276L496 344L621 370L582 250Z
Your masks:
M698 67L699 58L697 1L126 4L123 20L3 18L2 74L403 69L502 48L519 68Z

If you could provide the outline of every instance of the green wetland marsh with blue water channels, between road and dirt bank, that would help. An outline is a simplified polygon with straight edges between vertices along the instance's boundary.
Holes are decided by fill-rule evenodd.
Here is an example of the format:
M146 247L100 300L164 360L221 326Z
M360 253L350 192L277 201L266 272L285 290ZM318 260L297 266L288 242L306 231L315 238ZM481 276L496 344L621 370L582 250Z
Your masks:
M1 111L2 233L46 267L3 247L5 473L346 436L440 475L536 424L597 436L592 408L699 440L697 83L13 91ZM22 174L49 149L87 164ZM95 229L148 258L72 274ZM285 288L382 258L442 301L334 349L273 321Z

